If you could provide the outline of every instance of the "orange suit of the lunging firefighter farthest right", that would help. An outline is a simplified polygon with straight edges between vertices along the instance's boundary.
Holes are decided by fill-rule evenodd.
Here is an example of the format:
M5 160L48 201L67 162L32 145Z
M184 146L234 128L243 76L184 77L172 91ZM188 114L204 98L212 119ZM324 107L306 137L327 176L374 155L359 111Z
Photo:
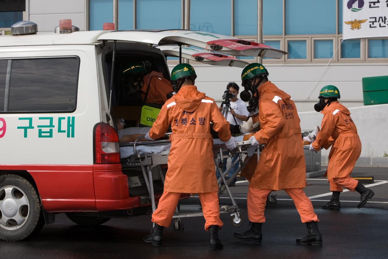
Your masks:
M316 151L321 147L331 150L325 175L331 191L345 187L354 191L358 181L351 178L353 167L361 154L361 141L349 110L338 101L333 101L321 111L322 124L317 139L312 143Z

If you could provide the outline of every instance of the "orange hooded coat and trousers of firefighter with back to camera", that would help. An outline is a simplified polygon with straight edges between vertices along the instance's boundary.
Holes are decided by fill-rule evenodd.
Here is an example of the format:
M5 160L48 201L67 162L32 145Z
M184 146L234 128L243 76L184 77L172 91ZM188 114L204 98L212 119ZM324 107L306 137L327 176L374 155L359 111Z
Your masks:
M196 86L183 86L161 108L149 131L149 137L163 137L171 124L171 149L168 155L163 194L152 222L168 227L181 193L198 193L209 226L223 226L218 205L218 186L213 160L213 138L210 122L222 141L231 137L229 122L218 110L215 101Z

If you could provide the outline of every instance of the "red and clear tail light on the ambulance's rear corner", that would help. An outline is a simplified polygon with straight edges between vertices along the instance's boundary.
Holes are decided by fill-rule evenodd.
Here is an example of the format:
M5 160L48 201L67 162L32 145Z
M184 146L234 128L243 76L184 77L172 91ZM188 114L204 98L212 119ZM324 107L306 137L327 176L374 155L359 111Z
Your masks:
M119 137L109 124L99 123L94 128L94 163L120 163Z

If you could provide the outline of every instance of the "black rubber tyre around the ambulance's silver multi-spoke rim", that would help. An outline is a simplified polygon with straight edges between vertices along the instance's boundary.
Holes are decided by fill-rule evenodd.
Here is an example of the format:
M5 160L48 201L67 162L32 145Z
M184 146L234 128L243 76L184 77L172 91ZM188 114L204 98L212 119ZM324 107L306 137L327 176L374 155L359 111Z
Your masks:
M15 242L37 234L43 228L45 221L43 218L42 210L40 209L40 199L35 187L33 187L28 180L20 175L0 175L0 219L2 218L3 212L5 212L2 211L3 208L5 208L3 206L5 204L3 203L7 200L7 198L4 196L5 191L2 192L2 190L5 190L4 188L13 188L18 191L19 195L24 193L26 196L25 198L28 200L27 206L29 212L24 219L23 224L20 224L19 228L17 228L17 226L5 226L0 222L0 239ZM23 193L20 191L23 191ZM18 207L17 210L19 211L21 208Z

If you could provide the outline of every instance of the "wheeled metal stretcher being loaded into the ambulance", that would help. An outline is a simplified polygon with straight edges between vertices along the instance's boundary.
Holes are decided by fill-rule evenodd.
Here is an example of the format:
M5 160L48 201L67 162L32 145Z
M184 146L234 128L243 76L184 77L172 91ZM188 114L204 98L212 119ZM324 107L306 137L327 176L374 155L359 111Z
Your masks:
M171 133L167 133L165 137L168 137L170 134ZM125 167L141 168L149 196L151 197L152 212L154 212L156 210L156 202L155 202L155 193L154 193L154 186L153 186L153 179L152 179L152 170L153 168L157 168L161 181L164 184L165 176L161 168L161 165L167 164L169 150L162 151L158 149L158 147L160 147L161 145L167 146L171 142L170 140L167 140L167 139L153 140L153 141L139 141L140 138L144 138L144 136L140 136L136 138L135 142L120 144L120 147L130 147L131 149L133 148L133 154L128 158L126 158L126 161L125 163L122 163L122 166L123 168ZM240 168L244 167L246 163L248 163L250 157L253 154L255 154L255 152L257 152L257 148L251 146L251 142L252 142L251 140L244 141L242 140L242 138L243 136L236 137L236 139L238 140L238 142L236 142L237 149L232 151L233 155L239 156L239 158L235 161L233 165L236 165L236 163L239 162L241 165ZM227 151L225 144L218 139L214 139L213 143L214 143L213 144L214 163L216 168L218 168L219 172L222 172L218 161L219 160L222 161L223 158L230 157L229 151L228 151L228 155L224 155L225 151ZM147 152L144 152L145 149L142 148L144 146L148 147ZM156 152L150 152L149 147L155 147ZM248 158L242 162L243 155L248 156ZM226 170L223 173L223 176L229 173L232 166L230 166L228 170ZM236 175L239 171L241 171L240 168L235 173ZM240 209L238 208L237 203L234 200L233 195L229 190L227 180L225 179L225 177L220 177L217 180L217 184L219 185L219 193L222 194L226 190L232 202L231 206L228 206L228 205L220 206L220 213L230 214L230 217L231 217L230 219L232 221L232 224L234 226L241 226L243 223L243 219L241 217ZM198 216L203 216L203 213L191 212L191 213L180 214L179 205L178 205L177 208L175 208L175 213L173 215L175 230L178 232L183 231L183 224L180 221L182 217L198 217Z

